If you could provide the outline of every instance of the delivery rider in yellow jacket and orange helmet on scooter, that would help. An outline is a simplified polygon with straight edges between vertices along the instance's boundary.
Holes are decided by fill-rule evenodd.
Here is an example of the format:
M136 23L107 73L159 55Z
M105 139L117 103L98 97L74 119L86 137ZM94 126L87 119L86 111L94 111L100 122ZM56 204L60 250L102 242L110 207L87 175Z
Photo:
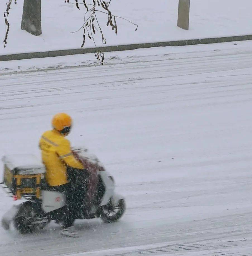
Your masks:
M75 189L72 177L77 170L84 170L71 152L70 142L65 137L69 134L72 126L72 119L68 114L59 113L52 119L53 130L46 131L40 138L40 149L42 161L46 168L46 181L53 191L62 192L66 195L66 207L64 207L64 219L61 233L64 235L76 236L73 231L74 212L76 201L83 200L83 192ZM74 179L76 180L76 179ZM79 200L80 199L80 200Z

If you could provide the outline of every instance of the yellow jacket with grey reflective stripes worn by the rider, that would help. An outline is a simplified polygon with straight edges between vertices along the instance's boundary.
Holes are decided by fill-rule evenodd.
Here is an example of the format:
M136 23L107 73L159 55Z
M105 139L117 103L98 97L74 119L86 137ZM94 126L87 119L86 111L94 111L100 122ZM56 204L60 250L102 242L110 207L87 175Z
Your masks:
M84 169L84 166L73 156L70 142L58 131L46 131L40 138L39 145L46 168L45 178L50 186L68 183L66 165Z

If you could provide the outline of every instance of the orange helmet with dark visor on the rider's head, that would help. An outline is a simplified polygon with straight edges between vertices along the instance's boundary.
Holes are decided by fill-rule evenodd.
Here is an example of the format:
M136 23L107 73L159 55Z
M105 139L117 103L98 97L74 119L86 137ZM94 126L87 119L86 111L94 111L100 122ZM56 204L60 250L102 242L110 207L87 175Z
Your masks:
M52 127L64 135L68 135L72 126L72 119L68 114L59 113L52 118Z

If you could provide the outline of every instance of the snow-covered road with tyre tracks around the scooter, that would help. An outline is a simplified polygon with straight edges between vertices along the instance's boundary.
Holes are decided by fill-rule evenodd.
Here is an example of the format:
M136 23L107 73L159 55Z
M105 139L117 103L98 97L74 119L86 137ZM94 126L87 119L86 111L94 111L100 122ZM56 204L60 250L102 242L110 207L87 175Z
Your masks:
M76 222L74 239L56 224L0 229L0 255L252 255L251 46L118 52L104 66L36 72L24 70L83 56L2 62L27 66L0 76L0 156L39 155L52 115L66 111L72 144L99 156L127 211L114 224ZM12 202L0 195L1 217Z

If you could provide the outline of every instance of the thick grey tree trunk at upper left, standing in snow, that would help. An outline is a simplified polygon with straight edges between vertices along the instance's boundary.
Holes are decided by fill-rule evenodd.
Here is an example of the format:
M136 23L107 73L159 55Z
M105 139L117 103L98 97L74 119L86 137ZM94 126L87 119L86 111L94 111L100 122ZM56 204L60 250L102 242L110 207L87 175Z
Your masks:
M41 0L24 0L21 29L34 36L42 34L41 30Z

